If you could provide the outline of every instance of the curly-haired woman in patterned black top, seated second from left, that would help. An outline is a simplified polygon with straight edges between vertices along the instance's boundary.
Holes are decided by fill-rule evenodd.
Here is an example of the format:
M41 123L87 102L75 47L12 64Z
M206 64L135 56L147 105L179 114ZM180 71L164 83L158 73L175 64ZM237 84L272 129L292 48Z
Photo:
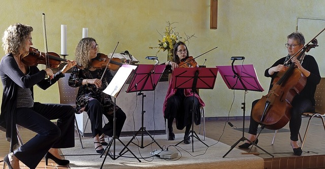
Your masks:
M69 78L69 85L79 87L76 98L77 113L86 111L91 123L91 132L95 151L102 154L103 146L107 146L105 142L105 134L113 136L113 111L114 102L110 95L105 94L103 90L113 79L110 70L105 67L95 69L92 61L96 59L98 53L98 44L93 38L83 38L78 43L75 51L75 57L78 63L83 65L84 69L77 66L72 68ZM102 76L104 77L102 78ZM102 79L102 80L100 80ZM116 136L119 137L124 125L126 115L116 106ZM109 122L102 126L103 115L107 117Z

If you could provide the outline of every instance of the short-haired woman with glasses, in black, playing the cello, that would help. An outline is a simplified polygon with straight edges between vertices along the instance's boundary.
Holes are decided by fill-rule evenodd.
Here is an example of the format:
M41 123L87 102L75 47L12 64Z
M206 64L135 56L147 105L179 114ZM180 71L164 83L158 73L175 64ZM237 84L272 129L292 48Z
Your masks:
M304 45L305 45L305 38L302 35L302 33L300 32L291 33L290 35L287 36L287 43L285 44L285 47L288 50L288 55L277 60L269 69L265 71L265 76L271 77L270 89L272 88L272 83L277 73L285 71L285 67L289 66L290 64L295 64L297 66L297 69L299 69L301 73L304 74L305 77L307 78L307 83L305 87L302 89L300 94L297 94L294 97L293 102L291 103L291 106L293 106L293 108L291 109L291 118L289 121L290 144L291 147L293 148L295 155L302 154L301 147L298 144L298 134L299 134L299 129L302 120L301 115L304 112L310 112L310 111L314 112L314 106L315 106L314 93L316 90L316 86L320 81L318 65L313 56L306 55L305 53L303 53L302 57L300 57L299 60L297 59L297 56L299 56L300 54L297 52L301 52L300 50L304 47ZM289 60L291 56L294 57L291 60ZM288 64L284 64L286 62ZM255 100L252 103L252 108L257 102L258 100ZM254 142L256 140L257 127L258 127L258 123L253 120L251 115L249 131L248 131L249 134L247 137L248 140L250 140L251 142ZM256 140L255 144L257 144L257 142L258 140ZM240 145L239 148L248 148L251 145L252 145L251 143L246 141L246 143Z

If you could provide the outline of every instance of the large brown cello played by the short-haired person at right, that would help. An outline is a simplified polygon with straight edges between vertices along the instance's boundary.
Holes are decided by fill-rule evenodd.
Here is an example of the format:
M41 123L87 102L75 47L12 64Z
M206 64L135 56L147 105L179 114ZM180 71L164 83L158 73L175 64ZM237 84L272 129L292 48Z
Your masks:
M307 43L307 45L301 48L289 60L293 59L298 53L297 59L299 60L305 52L308 52L311 48L315 48L317 46L316 37L310 41L312 44L309 44L310 42ZM287 64L287 62L284 64ZM253 120L268 129L276 130L284 127L291 117L291 102L303 90L306 82L305 75L294 63L285 67L285 71L278 72L275 75L272 83L273 86L269 90L269 93L259 99L252 108L251 116Z

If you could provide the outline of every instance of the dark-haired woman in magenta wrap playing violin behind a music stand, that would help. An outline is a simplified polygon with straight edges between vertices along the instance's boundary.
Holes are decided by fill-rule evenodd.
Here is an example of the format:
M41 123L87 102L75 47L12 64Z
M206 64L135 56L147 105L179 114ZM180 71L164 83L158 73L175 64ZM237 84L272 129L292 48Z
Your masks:
M173 61L165 63L169 64L172 69L178 66L182 67L183 65L187 65L186 67L198 66L194 60L188 59L191 56L188 55L187 47L183 42L175 44L173 54ZM186 62L190 62L190 64ZM172 80L173 79L171 79L171 81ZM185 127L184 143L190 144L189 130L192 124L191 109L194 104L194 123L198 125L201 123L200 106L205 106L205 104L197 92L195 92L193 98L191 89L172 89L171 84L170 82L163 107L164 117L168 120L168 140L175 140L175 134L173 132L173 121L175 118L177 129L182 130Z

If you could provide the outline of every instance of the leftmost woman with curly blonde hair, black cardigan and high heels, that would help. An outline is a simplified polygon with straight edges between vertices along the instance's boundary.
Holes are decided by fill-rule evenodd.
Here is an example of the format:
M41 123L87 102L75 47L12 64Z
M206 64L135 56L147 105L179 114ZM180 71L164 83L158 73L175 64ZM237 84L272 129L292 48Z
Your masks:
M4 158L5 165L9 168L19 168L19 161L29 168L36 168L44 156L46 164L50 158L58 165L67 165L69 160L62 159L58 149L75 145L74 108L69 105L34 102L33 87L37 85L47 89L64 77L64 73L76 65L76 61L68 60L68 64L54 75L51 69L40 71L37 66L24 64L21 59L28 55L32 45L32 30L29 25L15 23L5 30L2 37L6 55L0 62L4 88L0 129L6 131L6 138L11 142L10 153ZM50 121L54 119L58 119L57 125ZM18 147L16 124L37 135Z

